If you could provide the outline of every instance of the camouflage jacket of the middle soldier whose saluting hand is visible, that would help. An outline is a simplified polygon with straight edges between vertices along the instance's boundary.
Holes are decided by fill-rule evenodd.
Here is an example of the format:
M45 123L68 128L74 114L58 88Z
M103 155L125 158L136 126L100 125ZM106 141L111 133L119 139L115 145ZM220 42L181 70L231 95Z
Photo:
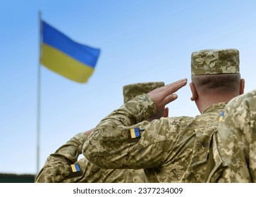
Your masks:
M105 117L85 141L83 154L102 168L145 169L146 182L206 182L208 156L225 103L209 106L196 117L162 117L147 94L136 96ZM144 128L129 142L128 130Z

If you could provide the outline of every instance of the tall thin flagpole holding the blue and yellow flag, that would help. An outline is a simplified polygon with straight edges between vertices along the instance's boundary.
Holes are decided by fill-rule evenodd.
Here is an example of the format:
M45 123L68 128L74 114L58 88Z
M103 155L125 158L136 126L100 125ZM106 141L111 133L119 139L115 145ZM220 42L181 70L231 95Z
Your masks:
M38 67L37 67L37 168L35 177L39 172L39 161L40 161L40 98L41 98L41 65L40 65L40 57L41 57L41 43L42 43L42 23L41 23L41 11L38 12L39 18L39 58L38 58Z

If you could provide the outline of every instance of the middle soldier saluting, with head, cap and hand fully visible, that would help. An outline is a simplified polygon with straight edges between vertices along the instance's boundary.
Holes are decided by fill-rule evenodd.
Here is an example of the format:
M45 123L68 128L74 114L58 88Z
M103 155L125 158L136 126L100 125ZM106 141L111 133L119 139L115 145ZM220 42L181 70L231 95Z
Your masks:
M147 182L206 182L220 113L243 93L244 80L236 49L196 51L191 69L191 100L201 115L146 120L178 97L186 79L136 96L99 122L83 146L87 159L103 168L143 168Z

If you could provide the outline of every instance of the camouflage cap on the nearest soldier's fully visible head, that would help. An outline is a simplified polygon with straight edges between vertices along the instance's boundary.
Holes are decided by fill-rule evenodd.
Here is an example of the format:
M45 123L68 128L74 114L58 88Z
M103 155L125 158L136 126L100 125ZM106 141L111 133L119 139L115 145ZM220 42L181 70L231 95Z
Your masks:
M192 75L239 73L239 51L236 49L209 49L191 55Z

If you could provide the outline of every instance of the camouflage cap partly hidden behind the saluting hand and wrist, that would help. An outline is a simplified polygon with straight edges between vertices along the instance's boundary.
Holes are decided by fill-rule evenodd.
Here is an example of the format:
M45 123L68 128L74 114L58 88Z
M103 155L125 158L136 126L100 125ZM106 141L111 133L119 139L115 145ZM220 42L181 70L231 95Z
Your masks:
M157 89L163 86L164 82L145 82L126 85L123 87L123 102L127 103L135 96L140 94L147 94L153 89Z

